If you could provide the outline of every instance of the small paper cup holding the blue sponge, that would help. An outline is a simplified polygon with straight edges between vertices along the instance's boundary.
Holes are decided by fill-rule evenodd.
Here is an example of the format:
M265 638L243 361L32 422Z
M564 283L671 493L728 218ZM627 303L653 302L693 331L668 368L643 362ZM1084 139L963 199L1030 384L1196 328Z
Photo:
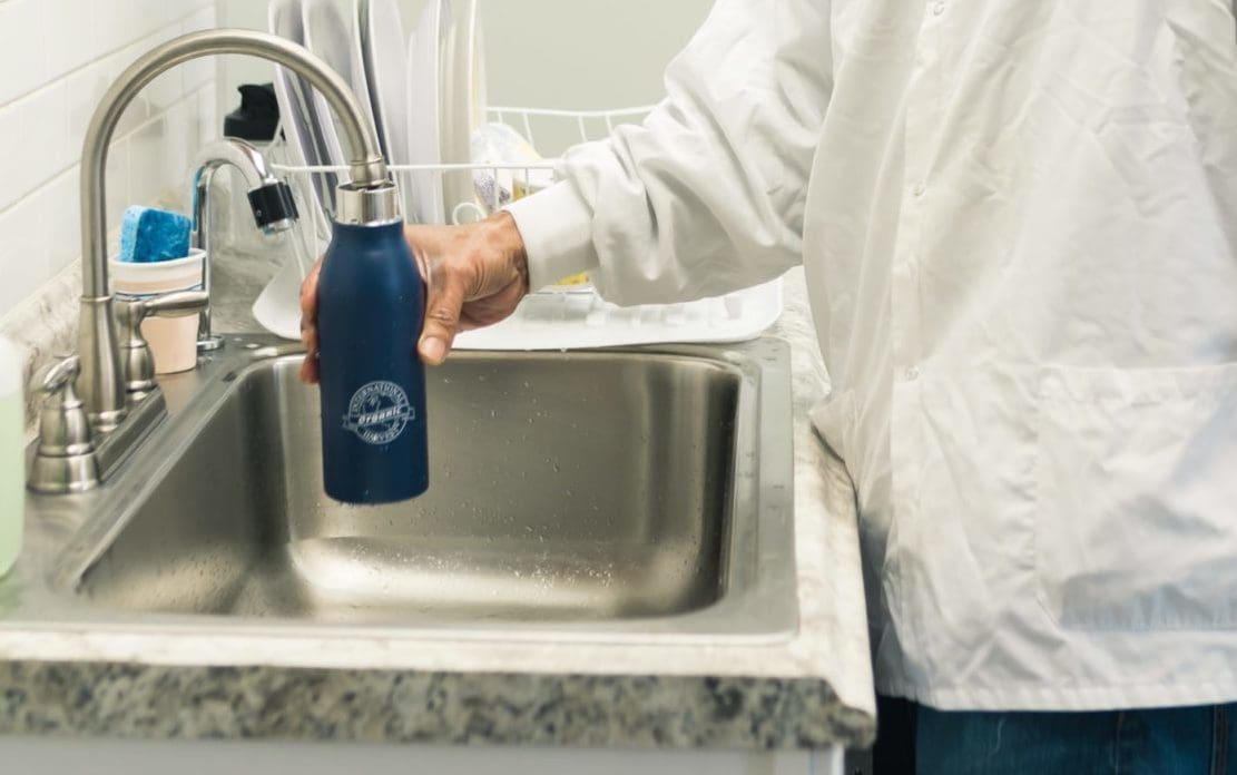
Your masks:
M197 248L188 256L169 261L134 264L113 259L109 261L113 293L119 300L134 301L174 291L199 291L205 260L207 253ZM150 344L156 374L188 371L198 365L198 317L142 321L142 336Z

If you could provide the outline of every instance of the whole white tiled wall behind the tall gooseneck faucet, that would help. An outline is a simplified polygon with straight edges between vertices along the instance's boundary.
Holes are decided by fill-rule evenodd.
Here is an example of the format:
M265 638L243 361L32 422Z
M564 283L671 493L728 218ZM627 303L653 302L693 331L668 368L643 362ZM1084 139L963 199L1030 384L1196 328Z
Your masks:
M99 99L135 58L215 26L214 0L0 0L0 317L80 255L79 158ZM161 76L108 152L110 227L129 204L188 191L219 134L212 61Z

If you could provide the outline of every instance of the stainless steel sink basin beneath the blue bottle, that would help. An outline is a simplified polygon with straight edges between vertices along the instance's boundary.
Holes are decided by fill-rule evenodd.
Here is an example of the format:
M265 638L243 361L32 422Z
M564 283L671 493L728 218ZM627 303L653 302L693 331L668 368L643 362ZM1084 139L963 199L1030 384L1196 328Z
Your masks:
M323 494L317 389L270 344L163 380L169 417L67 552L78 599L263 625L793 630L779 340L453 355L429 374L429 491L364 508Z

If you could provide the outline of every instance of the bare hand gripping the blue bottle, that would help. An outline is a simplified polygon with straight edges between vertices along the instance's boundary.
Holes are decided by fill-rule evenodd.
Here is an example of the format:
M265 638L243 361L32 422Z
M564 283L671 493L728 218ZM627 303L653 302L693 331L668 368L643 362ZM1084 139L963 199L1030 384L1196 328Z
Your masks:
M426 324L417 349L433 366L442 364L460 331L492 326L515 312L528 293L524 241L510 213L497 212L463 227L404 227L428 286ZM318 274L322 259L301 284L302 381L318 381Z

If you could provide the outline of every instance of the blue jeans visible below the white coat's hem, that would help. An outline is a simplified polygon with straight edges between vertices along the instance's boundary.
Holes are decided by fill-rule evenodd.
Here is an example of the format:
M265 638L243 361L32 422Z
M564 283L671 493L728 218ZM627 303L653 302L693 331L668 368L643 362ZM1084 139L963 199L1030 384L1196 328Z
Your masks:
M1237 775L1237 704L936 711L878 698L875 775Z

